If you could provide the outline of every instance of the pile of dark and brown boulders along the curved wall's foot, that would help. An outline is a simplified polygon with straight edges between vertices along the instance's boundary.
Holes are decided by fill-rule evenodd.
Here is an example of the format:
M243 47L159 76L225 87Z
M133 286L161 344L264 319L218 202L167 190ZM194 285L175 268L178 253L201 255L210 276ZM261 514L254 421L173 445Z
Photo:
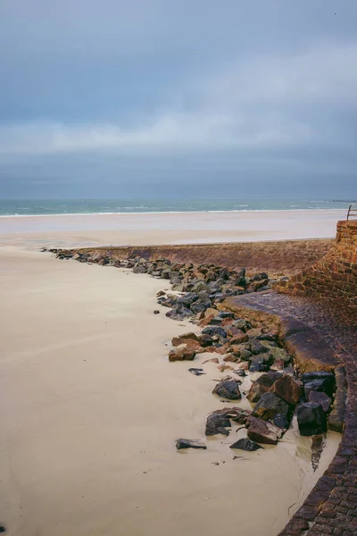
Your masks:
M227 297L270 289L277 280L270 279L267 273L247 277L245 268L228 270L214 264L194 266L171 263L169 259L118 260L102 252L50 251L60 259L72 258L80 263L129 268L134 273L146 273L170 281L172 290L170 293L160 291L157 303L170 308L166 316L179 321L190 318L198 323L202 331L200 334L189 331L174 337L169 360L192 361L203 352L220 356L222 364L219 357L207 359L203 364L212 362L219 365L220 372L234 374L222 378L212 390L223 401L242 398L239 386L245 371L260 373L246 395L253 405L252 411L232 406L213 412L207 416L206 436L228 436L233 421L247 428L247 438L236 441L231 448L255 451L261 448L258 443L276 445L289 428L295 413L302 435L313 436L327 431L328 412L335 389L334 374L316 372L295 376L292 357L286 352L274 327L264 322L249 322L220 310L220 304ZM190 368L189 371L197 376L204 374L202 368ZM206 448L198 440L179 439L176 446L178 449Z

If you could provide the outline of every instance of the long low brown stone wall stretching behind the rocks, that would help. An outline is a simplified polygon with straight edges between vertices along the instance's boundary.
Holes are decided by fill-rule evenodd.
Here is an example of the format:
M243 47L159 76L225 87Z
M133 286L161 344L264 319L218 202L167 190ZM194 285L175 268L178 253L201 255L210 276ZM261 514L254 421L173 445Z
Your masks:
M247 272L292 275L316 263L334 244L333 239L279 240L230 244L185 246L90 247L81 251L102 251L112 258L128 256L169 258L178 263L217 264L229 269L245 267Z

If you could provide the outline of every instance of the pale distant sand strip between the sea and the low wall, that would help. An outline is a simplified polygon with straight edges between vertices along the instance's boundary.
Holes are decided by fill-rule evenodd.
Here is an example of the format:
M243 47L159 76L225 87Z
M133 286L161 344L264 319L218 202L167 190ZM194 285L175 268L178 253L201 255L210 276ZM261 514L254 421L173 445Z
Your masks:
M76 247L333 238L343 210L0 218L0 244Z

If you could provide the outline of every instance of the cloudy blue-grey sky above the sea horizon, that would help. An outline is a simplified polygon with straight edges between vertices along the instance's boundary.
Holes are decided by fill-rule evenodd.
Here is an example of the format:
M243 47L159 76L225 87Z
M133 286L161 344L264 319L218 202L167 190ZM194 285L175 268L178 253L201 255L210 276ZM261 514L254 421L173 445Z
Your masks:
M1 0L0 197L356 198L356 0Z

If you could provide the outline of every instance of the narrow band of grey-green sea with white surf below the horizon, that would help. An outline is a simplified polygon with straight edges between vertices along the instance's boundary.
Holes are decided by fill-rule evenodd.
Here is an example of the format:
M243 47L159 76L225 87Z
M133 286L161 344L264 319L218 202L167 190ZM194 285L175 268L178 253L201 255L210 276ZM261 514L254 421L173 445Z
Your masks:
M0 216L346 209L348 200L296 199L0 199Z

